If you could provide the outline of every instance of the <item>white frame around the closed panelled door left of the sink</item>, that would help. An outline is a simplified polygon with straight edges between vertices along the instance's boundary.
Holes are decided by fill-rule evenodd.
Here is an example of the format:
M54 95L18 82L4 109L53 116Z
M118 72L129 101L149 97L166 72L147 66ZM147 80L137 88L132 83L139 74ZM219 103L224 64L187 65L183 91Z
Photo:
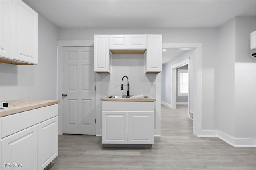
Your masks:
M58 40L57 45L57 94L56 98L60 100L58 104L58 115L59 115L59 135L63 134L63 47L94 47L93 40ZM99 79L99 75L96 74L96 82ZM96 83L97 86L97 83ZM97 98L97 91L96 91ZM96 107L96 106L95 106ZM96 107L96 120L100 120L99 110ZM96 134L99 127L99 121L96 121Z

